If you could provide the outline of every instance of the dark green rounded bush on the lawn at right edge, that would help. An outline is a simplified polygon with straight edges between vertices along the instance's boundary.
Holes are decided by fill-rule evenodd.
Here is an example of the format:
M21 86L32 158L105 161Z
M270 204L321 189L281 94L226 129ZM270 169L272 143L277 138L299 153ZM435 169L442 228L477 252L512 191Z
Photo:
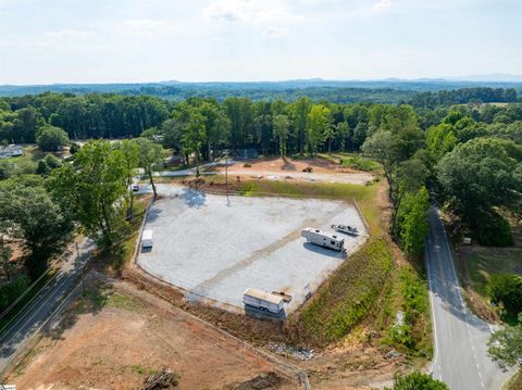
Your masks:
M522 277L511 274L493 275L489 279L489 297L494 303L502 303L509 314L522 312Z

